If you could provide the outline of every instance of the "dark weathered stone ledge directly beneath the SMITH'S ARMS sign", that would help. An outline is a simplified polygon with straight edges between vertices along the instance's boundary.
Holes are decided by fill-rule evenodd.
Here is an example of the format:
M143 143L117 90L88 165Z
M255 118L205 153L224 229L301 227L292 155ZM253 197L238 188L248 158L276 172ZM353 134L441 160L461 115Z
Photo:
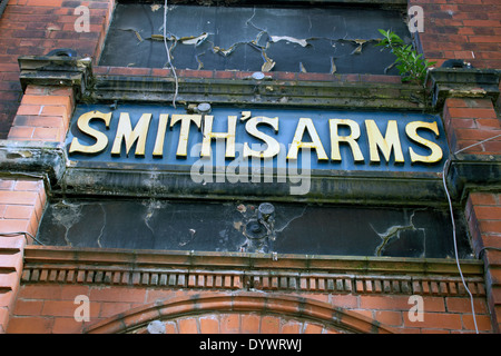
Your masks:
M102 164L82 167L80 162L69 162L60 181L61 194L104 196L217 199L261 199L266 196L274 201L289 201L291 182L256 184L195 182L188 171L124 169ZM376 202L397 201L402 205L443 204L444 190L441 174L406 172L345 172L330 171L315 176L312 171L310 191L297 196L297 201L351 201ZM256 189L256 186L259 189ZM391 187L391 189L389 189Z

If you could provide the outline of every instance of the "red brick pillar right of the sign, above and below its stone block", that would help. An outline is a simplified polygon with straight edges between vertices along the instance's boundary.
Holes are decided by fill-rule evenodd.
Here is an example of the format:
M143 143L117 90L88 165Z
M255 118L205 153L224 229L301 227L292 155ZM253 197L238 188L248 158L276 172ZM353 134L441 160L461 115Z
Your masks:
M501 159L501 121L491 99L449 98L443 119L452 152ZM500 137L497 137L500 136ZM492 139L491 139L492 138ZM501 330L501 200L499 188L473 187L465 218L477 256L485 265L489 308L494 330Z

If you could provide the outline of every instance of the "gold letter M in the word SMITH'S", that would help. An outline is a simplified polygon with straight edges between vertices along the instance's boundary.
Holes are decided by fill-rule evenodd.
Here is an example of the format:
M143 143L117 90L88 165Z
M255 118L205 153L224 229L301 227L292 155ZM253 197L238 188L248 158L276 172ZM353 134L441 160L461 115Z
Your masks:
M126 155L129 156L129 150L132 145L136 145L136 156L145 156L146 137L148 135L149 122L151 121L151 113L143 113L136 127L132 130L130 117L128 112L121 112L118 121L117 135L115 137L111 155L120 155L121 142L125 140Z

